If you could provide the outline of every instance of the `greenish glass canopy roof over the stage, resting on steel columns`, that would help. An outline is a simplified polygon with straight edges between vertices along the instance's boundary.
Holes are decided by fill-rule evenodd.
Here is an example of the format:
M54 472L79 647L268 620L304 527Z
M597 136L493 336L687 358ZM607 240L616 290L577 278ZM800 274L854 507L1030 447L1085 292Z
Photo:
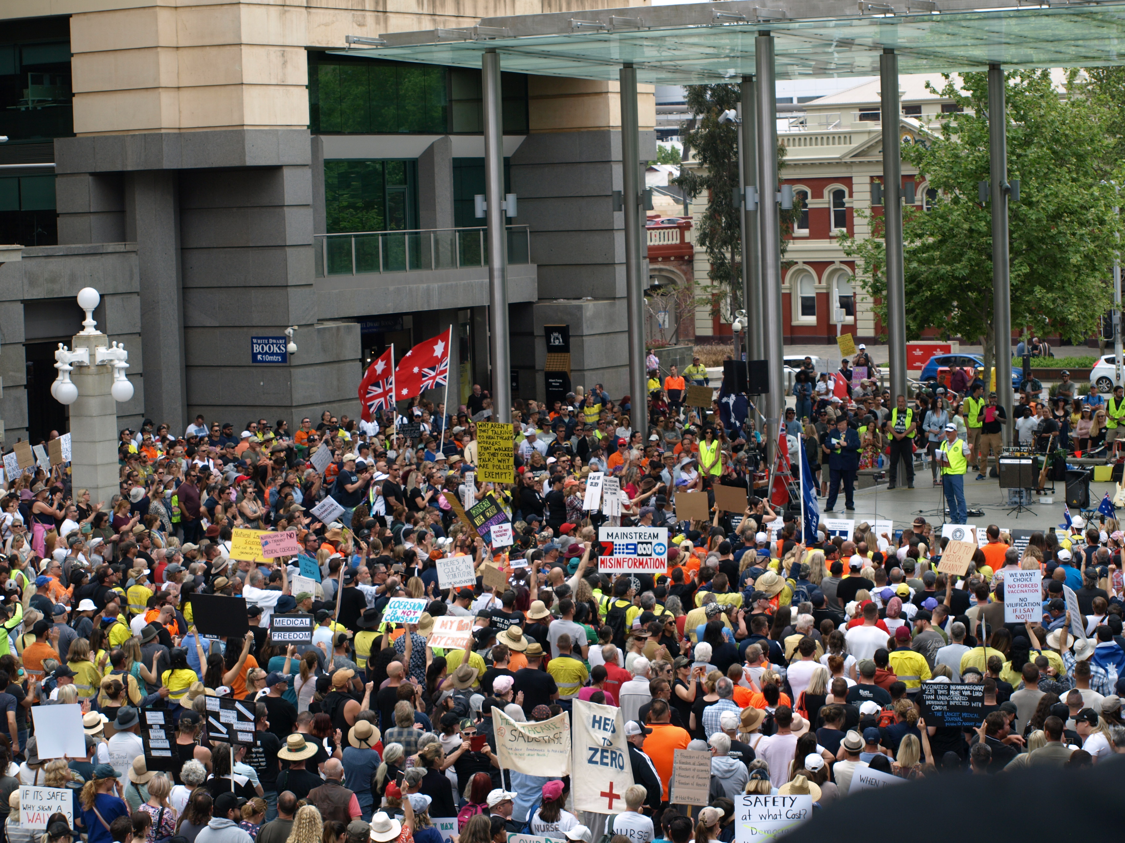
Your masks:
M775 36L777 79L871 76L893 48L900 73L1118 64L1125 2L981 9L910 0L912 8L846 0L749 0L490 18L469 29L382 36L386 46L339 51L423 64L479 67L495 49L505 71L616 80L624 63L639 82L700 84L754 73L754 38ZM966 3L962 3L964 7ZM926 11L917 10L919 6ZM936 6L936 10L929 10ZM836 11L836 15L826 12Z

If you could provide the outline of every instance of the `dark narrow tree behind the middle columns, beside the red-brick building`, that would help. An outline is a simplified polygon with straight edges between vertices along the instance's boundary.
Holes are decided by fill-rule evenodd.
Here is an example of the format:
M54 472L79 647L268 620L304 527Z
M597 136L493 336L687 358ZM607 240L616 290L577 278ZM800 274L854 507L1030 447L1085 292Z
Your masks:
M723 298L729 298L731 312L745 307L741 281L741 226L740 209L734 198L738 191L738 127L730 123L719 123L719 116L738 105L739 87L735 84L688 85L687 110L693 115L690 124L681 127L684 148L695 151L698 170L682 170L672 180L688 199L708 193L708 207L695 228L695 243L706 250L711 269L711 306L718 307ZM785 160L785 147L777 144L777 169ZM753 184L757 175L747 173L746 180ZM786 235L792 232L793 221L800 208L782 210L782 254L788 245Z

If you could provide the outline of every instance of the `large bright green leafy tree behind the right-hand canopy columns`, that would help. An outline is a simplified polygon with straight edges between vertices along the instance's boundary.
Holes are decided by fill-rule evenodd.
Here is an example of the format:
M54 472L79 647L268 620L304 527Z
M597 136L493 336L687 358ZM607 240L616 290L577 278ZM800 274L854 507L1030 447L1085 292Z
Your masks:
M1114 138L1108 112L1079 83L1060 96L1048 71L1006 74L1009 181L1020 200L1009 203L1011 323L1043 334L1084 341L1112 300L1109 284L1117 218ZM934 90L934 89L930 89ZM937 93L937 91L935 91ZM989 179L988 76L966 73L962 88L945 78L940 96L963 110L943 116L940 136L903 148L902 157L937 196L928 210L903 211L906 334L938 328L943 338L981 338L984 364L992 348L991 206L979 201ZM1119 179L1118 179L1119 181ZM886 324L882 216L860 211L872 236L842 237L856 275Z

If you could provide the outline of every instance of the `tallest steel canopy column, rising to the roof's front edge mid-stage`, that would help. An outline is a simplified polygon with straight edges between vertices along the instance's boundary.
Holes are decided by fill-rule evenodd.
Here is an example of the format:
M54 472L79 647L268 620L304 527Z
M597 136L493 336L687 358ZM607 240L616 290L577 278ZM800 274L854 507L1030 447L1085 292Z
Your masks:
M768 361L766 436L770 465L777 447L777 430L785 408L782 368L784 338L781 321L781 219L777 214L777 118L774 94L774 40L770 33L754 39L758 135L758 241L762 250L762 359Z

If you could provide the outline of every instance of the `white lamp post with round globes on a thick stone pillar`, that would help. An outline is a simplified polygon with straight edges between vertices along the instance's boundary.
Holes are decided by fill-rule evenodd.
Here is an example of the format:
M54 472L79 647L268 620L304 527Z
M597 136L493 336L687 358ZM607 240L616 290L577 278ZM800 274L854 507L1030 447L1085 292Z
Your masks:
M125 346L110 344L93 320L100 301L92 287L79 291L78 305L86 319L74 335L73 351L62 343L55 351L58 377L51 384L51 395L70 407L74 488L89 489L96 501L109 501L119 488L116 405L133 398L133 384L125 377L129 365Z

